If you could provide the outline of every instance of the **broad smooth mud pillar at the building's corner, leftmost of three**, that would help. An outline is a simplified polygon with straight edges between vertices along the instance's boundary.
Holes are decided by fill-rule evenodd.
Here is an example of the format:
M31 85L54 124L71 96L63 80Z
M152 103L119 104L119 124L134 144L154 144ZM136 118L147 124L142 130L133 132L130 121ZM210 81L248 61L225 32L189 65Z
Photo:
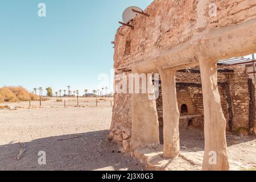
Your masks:
M131 96L131 150L146 147L149 144L160 143L156 102L155 100L152 100L151 93L152 90L154 90L152 75L146 74L146 81L148 88L146 93L142 93L142 81L140 81L140 92L133 93Z

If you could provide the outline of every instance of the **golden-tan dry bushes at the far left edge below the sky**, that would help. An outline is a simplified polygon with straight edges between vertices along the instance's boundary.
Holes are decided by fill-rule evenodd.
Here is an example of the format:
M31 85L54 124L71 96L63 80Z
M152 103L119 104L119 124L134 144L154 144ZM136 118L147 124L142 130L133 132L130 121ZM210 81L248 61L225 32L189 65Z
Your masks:
M3 86L0 88L0 102L35 101L39 97L22 86Z

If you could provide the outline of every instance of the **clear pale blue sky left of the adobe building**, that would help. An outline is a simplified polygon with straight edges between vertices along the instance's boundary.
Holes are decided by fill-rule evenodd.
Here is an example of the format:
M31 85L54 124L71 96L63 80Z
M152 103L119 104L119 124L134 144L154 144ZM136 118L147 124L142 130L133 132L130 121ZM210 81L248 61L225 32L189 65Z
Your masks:
M38 4L46 3L39 18ZM0 2L0 86L53 91L97 89L113 68L115 32L129 6L152 0L5 0ZM106 85L109 87L109 85ZM112 88L111 88L112 89Z

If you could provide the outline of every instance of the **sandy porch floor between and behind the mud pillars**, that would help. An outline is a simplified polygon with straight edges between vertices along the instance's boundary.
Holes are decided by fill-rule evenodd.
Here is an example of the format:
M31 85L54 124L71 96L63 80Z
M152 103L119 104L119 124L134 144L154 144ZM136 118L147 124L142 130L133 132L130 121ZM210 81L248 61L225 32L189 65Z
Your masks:
M163 129L160 142L163 144ZM226 133L230 170L256 170L256 138ZM170 170L201 170L204 157L204 133L189 127L180 130L180 159L174 160Z

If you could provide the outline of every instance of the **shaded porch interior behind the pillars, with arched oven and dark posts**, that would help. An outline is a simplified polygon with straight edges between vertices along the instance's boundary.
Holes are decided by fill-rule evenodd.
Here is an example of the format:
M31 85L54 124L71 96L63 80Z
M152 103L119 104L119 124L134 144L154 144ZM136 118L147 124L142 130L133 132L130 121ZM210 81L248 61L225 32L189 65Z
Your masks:
M241 64L241 63L240 63ZM250 80L245 65L218 66L218 91L221 107L226 119L226 130L238 134L250 134L250 96L255 93L249 89ZM252 84L251 86L254 87ZM156 98L159 124L163 125L163 100L160 94ZM180 129L189 125L201 127L204 125L203 91L199 69L189 69L187 72L176 73L177 104L180 111ZM255 105L255 104L254 104ZM255 109L254 109L255 110ZM255 119L254 119L255 121ZM250 128L251 127L251 128ZM256 128L255 128L256 129Z

